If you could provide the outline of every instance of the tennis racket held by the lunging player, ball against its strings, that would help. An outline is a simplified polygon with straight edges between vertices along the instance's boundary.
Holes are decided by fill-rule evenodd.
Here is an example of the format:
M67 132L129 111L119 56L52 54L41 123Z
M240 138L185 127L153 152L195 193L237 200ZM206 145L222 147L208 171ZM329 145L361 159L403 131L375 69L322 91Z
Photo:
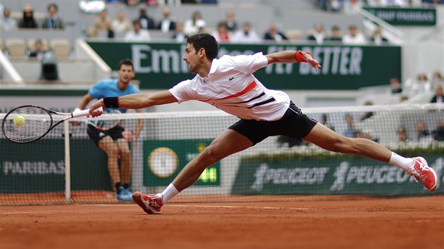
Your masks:
M101 108L97 110L103 111ZM66 117L54 124L53 115ZM88 115L90 115L90 110L58 113L40 106L19 106L6 113L1 123L1 131L6 139L14 143L32 143L42 139L51 129L60 125L63 121Z

